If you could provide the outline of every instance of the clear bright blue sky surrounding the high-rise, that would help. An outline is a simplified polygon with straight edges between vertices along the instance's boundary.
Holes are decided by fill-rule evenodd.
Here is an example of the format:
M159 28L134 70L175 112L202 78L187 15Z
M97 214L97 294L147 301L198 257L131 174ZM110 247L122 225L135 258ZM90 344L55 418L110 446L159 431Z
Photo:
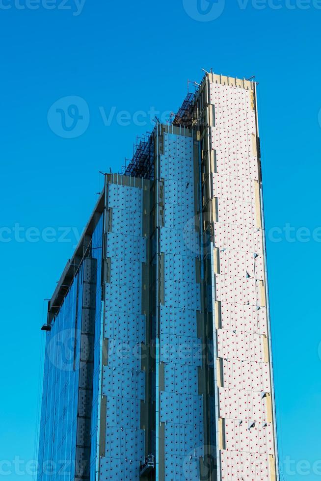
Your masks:
M321 231L312 235L321 226L321 2L274 0L275 9L271 1L241 8L241 0L225 7L220 0L206 16L196 0L87 0L79 15L74 0L69 10L57 8L61 0L51 10L19 1L0 2L0 460L13 472L3 478L32 478L25 463L36 452L43 299L78 240L70 232L62 242L58 229L81 231L102 187L99 170L119 171L136 134L154 125L132 118L124 126L116 114L176 111L187 79L199 81L201 68L213 67L260 82L266 227L280 240L267 240L279 448L281 461L294 461L281 464L281 479L321 479L321 462L312 467L321 460ZM48 124L50 107L65 96L88 105L77 138L54 133L52 114L53 130ZM108 116L112 107L106 126L101 111ZM35 241L48 227L54 241ZM305 242L301 227L310 232Z

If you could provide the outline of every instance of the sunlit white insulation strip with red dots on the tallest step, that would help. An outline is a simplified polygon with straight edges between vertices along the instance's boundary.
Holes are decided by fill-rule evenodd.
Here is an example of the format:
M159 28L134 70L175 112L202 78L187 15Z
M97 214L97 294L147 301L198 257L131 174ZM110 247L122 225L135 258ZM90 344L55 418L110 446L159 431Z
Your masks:
M251 92L212 83L222 480L269 480L274 455L256 118Z

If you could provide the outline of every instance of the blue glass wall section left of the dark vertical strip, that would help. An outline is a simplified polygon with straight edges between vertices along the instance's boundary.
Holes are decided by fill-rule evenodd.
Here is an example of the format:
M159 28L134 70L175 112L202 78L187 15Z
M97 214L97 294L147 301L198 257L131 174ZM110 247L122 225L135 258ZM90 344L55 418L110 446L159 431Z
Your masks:
M78 421L83 269L47 333L39 449L39 480L74 479Z

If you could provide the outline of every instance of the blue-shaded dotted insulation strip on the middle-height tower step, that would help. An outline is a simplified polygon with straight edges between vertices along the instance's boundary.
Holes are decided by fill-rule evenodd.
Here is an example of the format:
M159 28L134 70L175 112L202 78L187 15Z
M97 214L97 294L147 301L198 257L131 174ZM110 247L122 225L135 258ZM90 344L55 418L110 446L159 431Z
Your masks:
M199 480L203 454L203 399L198 395L202 365L197 337L200 285L196 259L200 256L195 229L193 139L164 134L160 156L164 179L164 225L160 252L164 254L164 305L160 306L160 361L164 389L160 392L160 422L164 423L165 481Z

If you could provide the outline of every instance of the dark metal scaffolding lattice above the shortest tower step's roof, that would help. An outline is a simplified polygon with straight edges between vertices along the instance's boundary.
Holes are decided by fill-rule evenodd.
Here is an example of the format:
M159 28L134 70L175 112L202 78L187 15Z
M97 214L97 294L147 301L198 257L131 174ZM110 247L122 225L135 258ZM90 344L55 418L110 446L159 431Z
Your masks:
M141 179L154 179L154 139L153 134L136 137L132 159L125 159L123 175Z

